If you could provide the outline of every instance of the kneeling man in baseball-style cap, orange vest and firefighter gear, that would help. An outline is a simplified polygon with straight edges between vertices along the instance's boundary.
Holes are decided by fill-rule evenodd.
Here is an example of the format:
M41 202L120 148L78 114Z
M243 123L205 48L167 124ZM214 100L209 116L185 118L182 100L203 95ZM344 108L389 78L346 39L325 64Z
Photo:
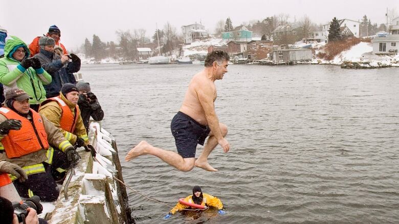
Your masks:
M79 160L71 143L46 117L29 108L30 96L21 89L11 88L0 108L0 160L22 167L28 175L25 182L14 181L21 197L37 195L42 201L55 201L59 195L46 162L51 146L61 149L63 160ZM12 177L16 179L16 177Z

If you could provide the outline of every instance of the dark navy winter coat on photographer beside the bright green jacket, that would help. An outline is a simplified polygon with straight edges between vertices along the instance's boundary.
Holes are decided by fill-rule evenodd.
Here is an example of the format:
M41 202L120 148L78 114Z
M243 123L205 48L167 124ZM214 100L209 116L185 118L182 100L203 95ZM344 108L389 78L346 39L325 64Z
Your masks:
M58 55L43 49L40 49L40 53L34 57L40 60L41 67L44 68L52 78L51 83L45 86L47 98L58 96L64 83L77 83L73 72L79 71L80 66L77 67L73 62L69 62L65 67L61 63L61 58Z

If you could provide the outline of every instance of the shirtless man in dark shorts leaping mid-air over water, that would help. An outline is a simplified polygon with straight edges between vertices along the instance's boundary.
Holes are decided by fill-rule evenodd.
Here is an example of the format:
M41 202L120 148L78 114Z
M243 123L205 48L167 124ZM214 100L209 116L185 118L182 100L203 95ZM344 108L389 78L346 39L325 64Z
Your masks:
M214 107L216 100L215 80L223 79L227 72L229 55L224 51L214 51L207 55L205 68L192 78L183 105L173 117L170 129L176 142L178 153L157 148L146 141L141 141L127 153L125 160L149 154L181 171L190 171L194 165L207 171L217 171L208 163L208 156L219 144L225 153L230 145L225 139L227 127L219 123ZM195 160L197 144L204 145L204 151Z

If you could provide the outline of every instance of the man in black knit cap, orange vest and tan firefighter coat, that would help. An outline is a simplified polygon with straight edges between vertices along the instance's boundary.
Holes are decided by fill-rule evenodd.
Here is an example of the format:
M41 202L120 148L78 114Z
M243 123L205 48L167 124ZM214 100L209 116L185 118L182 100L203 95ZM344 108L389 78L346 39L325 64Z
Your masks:
M86 129L83 125L80 109L77 105L78 99L79 89L72 83L65 83L61 87L59 96L48 98L40 104L39 113L53 122L54 126L62 132L72 145L75 145L75 147L87 145L92 151L92 155L95 155L95 150L88 141ZM65 170L62 169L62 164L54 163L54 161L60 161L56 158L60 154L57 153L56 148L53 152L49 152L49 163L53 165L53 177L62 181L65 177ZM52 157L55 160L51 161Z

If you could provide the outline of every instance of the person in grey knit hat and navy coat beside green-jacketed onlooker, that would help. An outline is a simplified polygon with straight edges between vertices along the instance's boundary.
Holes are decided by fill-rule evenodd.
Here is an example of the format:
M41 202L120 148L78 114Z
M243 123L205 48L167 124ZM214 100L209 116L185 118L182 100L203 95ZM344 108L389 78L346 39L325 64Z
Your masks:
M80 70L80 59L75 54L61 56L55 54L55 41L51 37L40 37L39 46L39 54L34 58L39 59L41 67L52 77L51 83L45 86L46 96L47 98L58 96L63 84L76 84L73 72Z

